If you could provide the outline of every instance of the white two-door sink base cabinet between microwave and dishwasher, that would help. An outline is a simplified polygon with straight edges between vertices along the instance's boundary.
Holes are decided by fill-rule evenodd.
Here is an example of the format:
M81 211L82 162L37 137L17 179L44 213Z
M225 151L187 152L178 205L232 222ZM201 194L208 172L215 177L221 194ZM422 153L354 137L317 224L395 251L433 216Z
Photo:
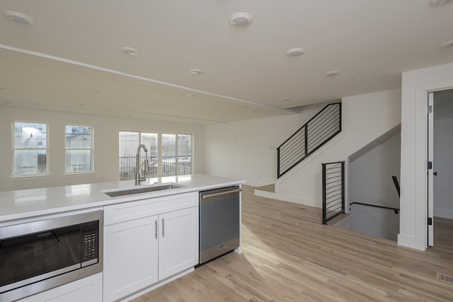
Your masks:
M197 265L197 198L193 192L105 207L103 301Z

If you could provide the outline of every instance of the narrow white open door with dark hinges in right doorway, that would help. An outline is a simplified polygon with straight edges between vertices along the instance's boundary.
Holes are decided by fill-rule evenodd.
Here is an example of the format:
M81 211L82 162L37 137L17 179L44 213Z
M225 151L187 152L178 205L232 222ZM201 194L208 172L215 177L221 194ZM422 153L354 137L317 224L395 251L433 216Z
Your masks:
M428 245L434 245L434 93L428 93Z

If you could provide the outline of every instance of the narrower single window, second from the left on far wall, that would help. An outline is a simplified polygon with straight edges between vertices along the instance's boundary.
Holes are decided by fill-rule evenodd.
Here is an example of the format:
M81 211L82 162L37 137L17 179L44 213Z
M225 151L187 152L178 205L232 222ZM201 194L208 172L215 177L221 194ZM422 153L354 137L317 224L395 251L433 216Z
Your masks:
M66 173L93 171L93 129L66 125Z

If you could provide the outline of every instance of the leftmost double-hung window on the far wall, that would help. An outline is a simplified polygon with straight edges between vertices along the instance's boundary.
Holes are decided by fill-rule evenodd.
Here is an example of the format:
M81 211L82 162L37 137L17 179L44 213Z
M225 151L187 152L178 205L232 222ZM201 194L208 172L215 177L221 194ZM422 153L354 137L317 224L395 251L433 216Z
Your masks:
M46 175L47 124L13 123L13 177Z

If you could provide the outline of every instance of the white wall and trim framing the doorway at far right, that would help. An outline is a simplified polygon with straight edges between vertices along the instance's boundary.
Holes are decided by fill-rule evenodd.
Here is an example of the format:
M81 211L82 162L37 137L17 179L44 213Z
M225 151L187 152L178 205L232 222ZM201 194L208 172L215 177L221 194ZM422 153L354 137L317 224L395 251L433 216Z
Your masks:
M453 63L403 72L399 245L427 247L428 92L452 87Z

